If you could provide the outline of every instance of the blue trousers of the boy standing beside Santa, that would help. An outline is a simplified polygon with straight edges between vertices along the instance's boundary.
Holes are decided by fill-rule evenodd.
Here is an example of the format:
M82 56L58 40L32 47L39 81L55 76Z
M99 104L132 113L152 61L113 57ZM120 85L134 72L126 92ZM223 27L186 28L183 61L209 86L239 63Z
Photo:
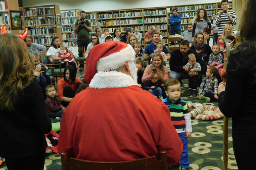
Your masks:
M181 167L182 168L189 168L189 161L188 161L188 142L186 138L186 133L178 133L179 137L181 138L183 144L183 151L181 154Z

